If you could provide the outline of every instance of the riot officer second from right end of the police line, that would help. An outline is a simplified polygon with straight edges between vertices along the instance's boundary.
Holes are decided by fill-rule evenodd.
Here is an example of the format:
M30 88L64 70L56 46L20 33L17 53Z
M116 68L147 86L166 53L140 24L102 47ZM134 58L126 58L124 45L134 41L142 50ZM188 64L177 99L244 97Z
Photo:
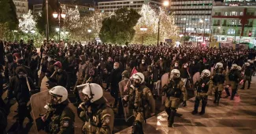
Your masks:
M234 100L234 96L236 95L239 85L239 79L241 77L240 75L241 74L239 73L238 65L236 63L232 64L231 70L228 72L228 79L232 88L232 95L230 100Z

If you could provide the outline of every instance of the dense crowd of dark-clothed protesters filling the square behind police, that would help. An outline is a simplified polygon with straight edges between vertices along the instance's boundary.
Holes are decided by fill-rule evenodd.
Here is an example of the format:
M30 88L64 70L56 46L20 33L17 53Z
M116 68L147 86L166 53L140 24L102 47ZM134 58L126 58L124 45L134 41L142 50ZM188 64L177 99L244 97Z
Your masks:
M106 83L105 90L115 99L113 107L117 107L119 97L118 83L122 80L124 71L130 76L135 69L145 75L149 89L161 80L161 76L173 69L180 71L180 78L185 85L197 72L211 70L216 63L223 63L224 68L231 68L236 63L243 68L244 63L250 63L252 72L255 71L256 51L254 49L217 49L206 47L173 47L169 45L95 45L88 42L50 42L36 49L33 42L0 42L0 94L8 90L7 100L16 98L19 103L28 102L29 93L16 91L13 94L13 77L20 70L30 78L31 89L43 87L43 78L47 77L48 88L61 85L69 93L76 94L76 103L80 97L76 86L87 83ZM19 69L19 70L18 70ZM18 70L18 71L17 71ZM2 75L3 74L3 75ZM251 74L252 75L252 74ZM2 86L4 85L4 86ZM20 98L17 98L20 96ZM25 99L27 98L27 99ZM8 111L8 110L6 110ZM8 112L6 112L8 113ZM28 115L28 118L31 118Z

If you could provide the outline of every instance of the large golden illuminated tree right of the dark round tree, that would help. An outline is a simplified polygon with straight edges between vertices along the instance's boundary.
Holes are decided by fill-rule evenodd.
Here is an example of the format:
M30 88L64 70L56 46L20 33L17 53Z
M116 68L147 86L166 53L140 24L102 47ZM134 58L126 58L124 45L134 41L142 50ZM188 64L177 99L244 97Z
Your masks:
M135 26L134 43L140 44L144 37L143 44L154 44L158 42L158 21L160 19L159 42L165 42L165 39L172 39L173 42L179 40L179 29L174 23L174 16L166 13L165 9L152 9L150 5L143 5L139 12L141 17ZM147 31L140 31L140 27L147 27Z

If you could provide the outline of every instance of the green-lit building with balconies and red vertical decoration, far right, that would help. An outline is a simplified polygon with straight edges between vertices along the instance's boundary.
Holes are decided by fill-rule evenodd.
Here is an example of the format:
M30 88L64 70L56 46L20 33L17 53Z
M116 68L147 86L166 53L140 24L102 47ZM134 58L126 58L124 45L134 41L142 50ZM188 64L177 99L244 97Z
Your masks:
M213 3L215 42L250 42L256 45L256 1L224 0Z

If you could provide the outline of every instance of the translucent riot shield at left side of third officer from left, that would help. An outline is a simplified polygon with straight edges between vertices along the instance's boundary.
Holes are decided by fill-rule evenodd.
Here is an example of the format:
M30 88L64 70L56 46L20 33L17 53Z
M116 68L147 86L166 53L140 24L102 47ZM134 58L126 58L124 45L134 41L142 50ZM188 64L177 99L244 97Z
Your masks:
M119 85L121 103L122 103L123 110L124 110L124 119L127 122L131 122L133 120L133 118L132 118L133 117L133 109L132 109L132 107L129 107L128 102L123 100L125 96L128 96L131 81L123 80L123 81L120 81L118 85ZM127 89L125 88L125 86L127 86Z

